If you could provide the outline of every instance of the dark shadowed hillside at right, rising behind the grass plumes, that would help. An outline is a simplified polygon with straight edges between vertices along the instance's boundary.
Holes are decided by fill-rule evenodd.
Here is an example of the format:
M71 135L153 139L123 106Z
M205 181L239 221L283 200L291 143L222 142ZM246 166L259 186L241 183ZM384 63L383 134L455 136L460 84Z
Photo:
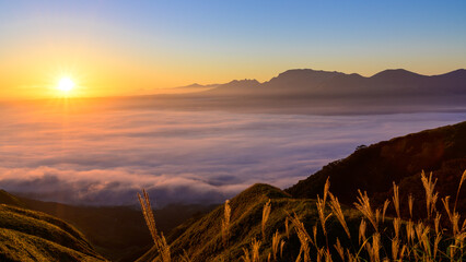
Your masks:
M314 199L322 194L329 177L333 192L341 202L356 201L357 190L368 191L381 204L392 194L392 182L422 199L421 170L433 171L440 196L455 192L466 169L466 122L426 130L357 150L345 159L328 164L322 170L286 190L294 198ZM466 212L466 190L461 194L459 211ZM381 201L382 200L382 201Z

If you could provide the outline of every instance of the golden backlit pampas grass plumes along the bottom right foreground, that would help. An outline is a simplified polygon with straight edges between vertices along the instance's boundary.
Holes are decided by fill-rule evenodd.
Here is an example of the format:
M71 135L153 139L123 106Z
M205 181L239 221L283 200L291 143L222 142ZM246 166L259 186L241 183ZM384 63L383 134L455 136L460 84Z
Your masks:
M436 210L436 200L439 193L435 192L436 180L432 178L432 174L427 177L423 172L421 175L421 182L426 191L426 217L418 221L412 219L412 206L415 199L412 195L408 196L408 209L409 217L404 221L400 214L400 199L399 188L393 183L394 195L392 201L396 211L396 217L389 218L389 223L385 223L385 212L389 205L388 200L384 202L383 209L373 210L371 207L371 200L366 192L362 193L360 190L358 202L354 206L362 214L362 218L359 226L358 243L353 243L351 239L356 236L351 236L351 231L348 227L346 217L338 202L338 199L330 193L330 182L327 179L324 187L324 195L321 199L317 195L316 211L318 214L318 222L312 227L313 238L307 233L305 225L301 222L300 217L293 213L290 215L287 211L287 218L284 219L284 233L280 234L276 230L271 236L270 246L271 251L268 253L260 254L260 247L263 243L267 243L267 222L271 213L270 200L264 205L263 219L261 219L261 237L263 240L253 238L248 246L243 247L243 255L241 259L245 262L259 262L260 258L264 261L283 261L283 252L286 251L286 242L282 239L283 236L290 240L291 230L294 229L294 234L300 242L300 251L295 257L294 261L310 262L311 258L314 257L316 261L333 261L334 259L341 261L466 261L466 254L464 253L464 246L466 239L466 219L462 218L461 214L456 211L456 204L458 201L458 194L463 182L466 179L466 171L463 174L459 184L456 191L455 203L453 209L450 205L450 196L443 198L443 210L446 217L442 221L442 214ZM145 222L152 238L154 239L155 247L161 254L162 261L170 261L170 247L166 245L163 235L159 235L155 228L155 222L153 219L152 210L149 202L149 196L143 191L143 198L139 195L141 202L142 212L144 214ZM327 196L329 196L327 206ZM340 239L336 238L331 246L335 252L330 252L328 243L326 222L335 215L339 224L341 225L349 241L340 242ZM231 207L229 201L224 205L224 216L222 218L222 241L226 249L229 246L229 230L230 230L230 218ZM382 224L381 224L382 222ZM374 230L368 230L368 223L370 223ZM462 225L462 226L459 226ZM446 227L445 227L446 226ZM326 239L325 246L317 243L317 231L318 227L322 227L322 234ZM372 234L370 233L372 231ZM368 233L370 233L368 235ZM384 242L388 242L384 247ZM280 254L280 258L279 258ZM280 260L281 259L281 260ZM190 261L188 253L185 251L179 261ZM289 261L289 260L287 260Z

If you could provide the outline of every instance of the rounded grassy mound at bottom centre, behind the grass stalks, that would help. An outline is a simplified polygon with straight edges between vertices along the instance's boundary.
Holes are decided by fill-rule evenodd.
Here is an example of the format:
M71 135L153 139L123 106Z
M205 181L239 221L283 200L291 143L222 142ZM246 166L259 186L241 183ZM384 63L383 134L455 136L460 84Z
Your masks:
M289 194L278 188L268 184L255 184L245 190L237 196L231 200L232 209L232 226L231 238L226 249L222 246L221 236L221 219L223 217L223 205L219 206L208 215L200 219L191 221L175 229L168 241L173 258L177 258L183 253L183 250L189 254L193 261L218 261L224 258L225 261L240 261L243 255L243 248L249 248L251 240L261 239L261 215L264 204L271 200L270 218L267 222L266 240L263 242L260 253L263 259L271 250L271 238L275 230L284 237L284 222L287 212L299 215L300 219L311 229L318 219L314 200L292 199ZM360 215L352 209L343 207L347 215L347 222L350 230L356 234L360 223ZM342 227L335 217L330 217L327 222L329 228L329 239L335 240L338 236L342 242L348 241L342 234ZM292 231L290 224L290 239L286 239L283 259L281 261L294 261L299 253L299 240ZM318 234L318 241L324 243L325 240ZM156 251L151 249L148 253L141 257L138 261L152 261L156 257ZM175 260L177 261L177 260Z

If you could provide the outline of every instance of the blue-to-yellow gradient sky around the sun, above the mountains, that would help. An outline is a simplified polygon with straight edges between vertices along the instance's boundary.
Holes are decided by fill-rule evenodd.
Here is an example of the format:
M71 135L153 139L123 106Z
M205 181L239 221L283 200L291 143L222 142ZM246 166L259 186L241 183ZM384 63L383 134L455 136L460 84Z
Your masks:
M0 99L83 96L293 68L372 75L466 68L466 1L0 0Z

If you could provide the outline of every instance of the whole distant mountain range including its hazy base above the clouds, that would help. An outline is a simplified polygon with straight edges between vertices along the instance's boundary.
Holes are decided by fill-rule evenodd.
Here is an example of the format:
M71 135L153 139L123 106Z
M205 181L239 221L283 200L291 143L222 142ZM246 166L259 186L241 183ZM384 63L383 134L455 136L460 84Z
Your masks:
M361 115L464 111L466 70L421 75L403 69L370 78L341 72L294 69L266 82L234 80L194 84L196 92L113 99L118 108L224 110L235 112ZM183 90L183 88L182 88ZM105 104L100 99L98 105Z

